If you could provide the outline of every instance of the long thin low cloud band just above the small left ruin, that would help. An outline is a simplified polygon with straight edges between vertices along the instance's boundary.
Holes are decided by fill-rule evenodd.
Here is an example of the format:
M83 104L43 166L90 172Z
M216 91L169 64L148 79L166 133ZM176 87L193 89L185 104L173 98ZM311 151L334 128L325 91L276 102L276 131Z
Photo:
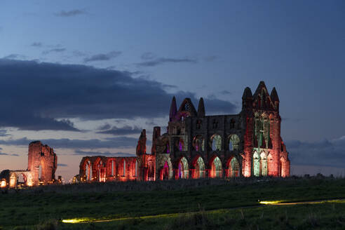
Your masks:
M109 137L104 140L90 139L90 140L79 140L79 139L41 139L43 144L48 146L62 149L100 149L100 148L132 148L137 146L137 138L134 137ZM27 147L29 143L35 140L27 139L23 137L20 139L0 140L0 144L14 145ZM151 144L147 141L147 144Z

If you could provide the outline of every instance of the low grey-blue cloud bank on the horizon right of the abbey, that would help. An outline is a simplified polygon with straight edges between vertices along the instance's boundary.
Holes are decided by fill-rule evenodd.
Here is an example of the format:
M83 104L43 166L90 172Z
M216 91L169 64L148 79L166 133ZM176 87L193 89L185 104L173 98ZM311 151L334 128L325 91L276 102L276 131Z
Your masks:
M320 142L285 142L292 164L321 165L344 168L345 139Z

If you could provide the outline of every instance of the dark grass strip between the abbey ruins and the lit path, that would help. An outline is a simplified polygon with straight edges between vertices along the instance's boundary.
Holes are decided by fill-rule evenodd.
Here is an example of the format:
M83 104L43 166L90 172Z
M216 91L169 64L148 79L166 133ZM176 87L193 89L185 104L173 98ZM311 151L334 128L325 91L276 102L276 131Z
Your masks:
M11 229L13 226L38 224L46 219L107 219L189 212L199 210L199 205L205 210L215 210L257 205L258 200L304 201L345 197L344 179L189 180L148 184L76 184L0 194L0 226Z

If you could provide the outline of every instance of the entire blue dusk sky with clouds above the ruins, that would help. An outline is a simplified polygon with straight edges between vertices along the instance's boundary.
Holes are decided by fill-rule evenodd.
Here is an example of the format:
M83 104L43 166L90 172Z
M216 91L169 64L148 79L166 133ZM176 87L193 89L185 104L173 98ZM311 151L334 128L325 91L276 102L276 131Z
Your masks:
M0 171L29 142L56 175L83 156L133 156L170 101L237 114L245 87L276 87L292 175L345 176L345 1L0 0Z

